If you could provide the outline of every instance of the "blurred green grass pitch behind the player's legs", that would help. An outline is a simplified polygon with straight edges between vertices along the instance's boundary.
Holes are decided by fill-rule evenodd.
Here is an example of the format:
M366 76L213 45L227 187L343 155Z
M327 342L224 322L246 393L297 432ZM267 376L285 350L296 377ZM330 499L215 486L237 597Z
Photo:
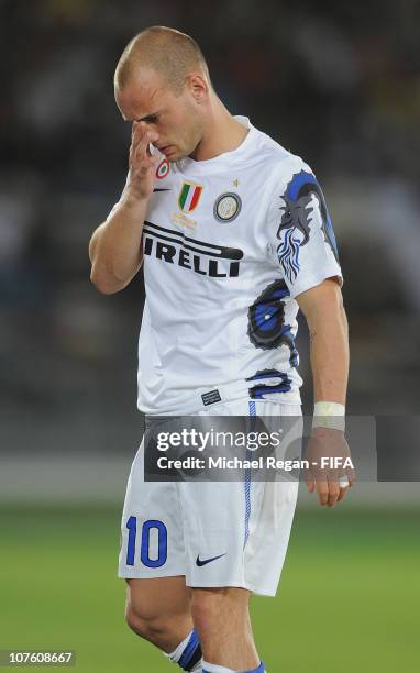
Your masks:
M86 673L175 671L124 625L119 518L2 507L0 649L76 650ZM278 597L253 599L269 673L416 670L419 521L418 509L298 511Z

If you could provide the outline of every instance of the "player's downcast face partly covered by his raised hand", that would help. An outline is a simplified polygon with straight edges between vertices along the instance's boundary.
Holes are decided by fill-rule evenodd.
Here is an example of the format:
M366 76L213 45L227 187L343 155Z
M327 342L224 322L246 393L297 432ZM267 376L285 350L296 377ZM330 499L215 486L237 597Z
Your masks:
M153 144L169 162L192 154L202 139L202 111L188 82L176 95L156 73L142 70L115 91L115 101L125 121L143 121L158 135Z

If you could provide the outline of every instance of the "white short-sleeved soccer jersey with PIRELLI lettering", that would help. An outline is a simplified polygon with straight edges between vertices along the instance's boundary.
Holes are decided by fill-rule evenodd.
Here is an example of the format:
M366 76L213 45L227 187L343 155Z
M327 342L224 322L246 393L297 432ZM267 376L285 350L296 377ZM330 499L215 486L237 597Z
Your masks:
M250 129L233 152L156 170L143 229L139 408L194 413L229 398L299 404L296 297L338 277L309 166Z

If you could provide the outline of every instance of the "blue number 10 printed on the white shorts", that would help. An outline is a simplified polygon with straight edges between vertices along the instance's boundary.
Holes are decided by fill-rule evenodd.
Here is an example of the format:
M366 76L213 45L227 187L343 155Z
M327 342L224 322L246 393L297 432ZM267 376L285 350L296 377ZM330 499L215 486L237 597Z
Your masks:
M135 549L137 540L137 517L129 517L126 522L129 529L129 542L126 545L126 565L134 565ZM151 533L157 531L157 556L151 558ZM139 531L140 533L140 531ZM140 559L147 567L161 567L166 563L168 548L168 531L163 521L150 519L144 521L141 531Z

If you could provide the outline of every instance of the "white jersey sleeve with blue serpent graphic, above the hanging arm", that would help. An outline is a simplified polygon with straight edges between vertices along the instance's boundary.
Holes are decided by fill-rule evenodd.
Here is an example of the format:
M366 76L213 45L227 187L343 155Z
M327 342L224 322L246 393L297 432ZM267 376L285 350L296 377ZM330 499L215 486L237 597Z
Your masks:
M330 213L321 187L307 164L292 162L279 178L267 214L268 250L291 297L343 276Z

